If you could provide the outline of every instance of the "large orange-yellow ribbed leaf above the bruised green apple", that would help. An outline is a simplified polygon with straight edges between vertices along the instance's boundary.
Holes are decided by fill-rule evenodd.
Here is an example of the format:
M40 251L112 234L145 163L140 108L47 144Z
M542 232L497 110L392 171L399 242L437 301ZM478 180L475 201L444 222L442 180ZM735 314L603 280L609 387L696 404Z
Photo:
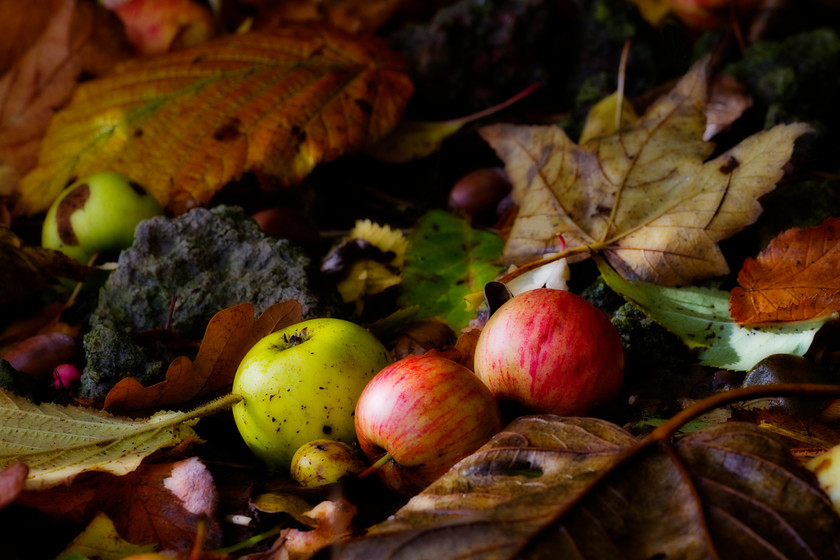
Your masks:
M412 91L378 38L304 24L133 59L82 84L56 114L17 210L42 211L70 179L103 168L175 214L246 171L294 184L382 137Z

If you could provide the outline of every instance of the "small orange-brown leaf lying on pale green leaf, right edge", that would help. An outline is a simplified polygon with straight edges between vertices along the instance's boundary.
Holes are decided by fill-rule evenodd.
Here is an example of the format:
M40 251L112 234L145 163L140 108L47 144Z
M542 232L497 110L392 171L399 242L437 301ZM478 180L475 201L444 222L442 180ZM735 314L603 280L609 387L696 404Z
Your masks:
M791 228L748 258L732 289L730 313L742 325L807 321L840 311L840 218Z

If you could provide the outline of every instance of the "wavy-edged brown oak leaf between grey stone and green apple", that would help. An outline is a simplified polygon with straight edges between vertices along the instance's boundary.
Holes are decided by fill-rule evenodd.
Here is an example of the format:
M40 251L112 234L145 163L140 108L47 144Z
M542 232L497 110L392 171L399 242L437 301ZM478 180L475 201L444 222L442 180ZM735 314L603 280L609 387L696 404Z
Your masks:
M241 303L216 313L207 325L195 360L176 358L166 379L148 387L133 377L121 379L105 396L105 410L148 410L206 397L233 383L239 362L258 340L297 323L296 301L275 303L254 319L254 306Z

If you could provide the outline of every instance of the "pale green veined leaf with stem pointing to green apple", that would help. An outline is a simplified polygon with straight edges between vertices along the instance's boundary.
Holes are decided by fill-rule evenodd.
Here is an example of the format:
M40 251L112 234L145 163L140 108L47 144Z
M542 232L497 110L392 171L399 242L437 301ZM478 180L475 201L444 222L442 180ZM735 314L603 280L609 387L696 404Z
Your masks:
M85 471L123 475L162 447L199 440L192 429L198 419L238 399L227 395L187 412L133 419L81 406L36 405L0 390L0 468L26 463L27 490L63 484Z

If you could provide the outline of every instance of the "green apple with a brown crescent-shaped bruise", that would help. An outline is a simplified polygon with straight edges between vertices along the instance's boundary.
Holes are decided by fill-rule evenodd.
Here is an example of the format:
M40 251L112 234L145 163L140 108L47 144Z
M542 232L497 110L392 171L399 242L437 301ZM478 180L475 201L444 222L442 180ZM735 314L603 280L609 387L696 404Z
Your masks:
M44 218L41 245L80 262L134 242L141 221L163 214L158 201L125 175L103 171L64 189Z

